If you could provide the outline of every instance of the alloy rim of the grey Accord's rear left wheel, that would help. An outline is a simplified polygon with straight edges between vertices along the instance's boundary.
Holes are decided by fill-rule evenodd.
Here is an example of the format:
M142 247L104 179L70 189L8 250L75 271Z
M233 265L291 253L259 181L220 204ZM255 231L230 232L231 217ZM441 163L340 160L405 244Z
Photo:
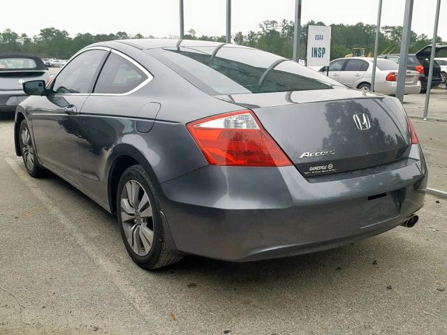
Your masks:
M129 246L137 255L147 255L154 240L152 206L138 181L129 180L124 184L120 204L121 222Z

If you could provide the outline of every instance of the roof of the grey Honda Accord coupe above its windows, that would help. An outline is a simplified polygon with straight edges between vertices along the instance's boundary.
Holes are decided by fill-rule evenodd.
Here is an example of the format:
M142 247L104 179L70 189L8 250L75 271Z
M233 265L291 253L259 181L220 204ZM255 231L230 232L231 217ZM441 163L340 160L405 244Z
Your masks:
M93 47L95 45L108 45L108 43L123 43L131 45L140 50L154 49L157 47L218 47L219 45L225 45L227 43L210 42L208 40L182 40L182 39L168 39L168 38L141 38L141 39L129 39L129 40L110 40L108 42L101 42L89 45ZM244 47L237 44L228 44L231 47ZM245 47L249 48L249 47ZM251 48L249 48L251 49Z

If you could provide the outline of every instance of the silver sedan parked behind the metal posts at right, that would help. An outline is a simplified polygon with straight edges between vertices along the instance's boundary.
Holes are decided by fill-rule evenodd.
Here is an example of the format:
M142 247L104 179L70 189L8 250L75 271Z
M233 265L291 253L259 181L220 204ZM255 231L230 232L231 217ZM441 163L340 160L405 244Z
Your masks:
M347 87L371 90L373 59L368 57L349 57L335 59L330 62L328 68L321 68L321 73ZM399 66L387 59L377 59L376 81L374 91L381 94L396 94L397 70ZM418 94L420 92L419 73L417 71L406 71L404 94Z

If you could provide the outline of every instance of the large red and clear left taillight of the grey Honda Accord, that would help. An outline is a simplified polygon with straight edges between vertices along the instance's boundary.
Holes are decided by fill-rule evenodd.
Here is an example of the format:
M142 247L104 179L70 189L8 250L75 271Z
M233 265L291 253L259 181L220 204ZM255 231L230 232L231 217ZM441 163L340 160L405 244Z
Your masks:
M251 110L207 117L186 127L210 165L292 165Z

